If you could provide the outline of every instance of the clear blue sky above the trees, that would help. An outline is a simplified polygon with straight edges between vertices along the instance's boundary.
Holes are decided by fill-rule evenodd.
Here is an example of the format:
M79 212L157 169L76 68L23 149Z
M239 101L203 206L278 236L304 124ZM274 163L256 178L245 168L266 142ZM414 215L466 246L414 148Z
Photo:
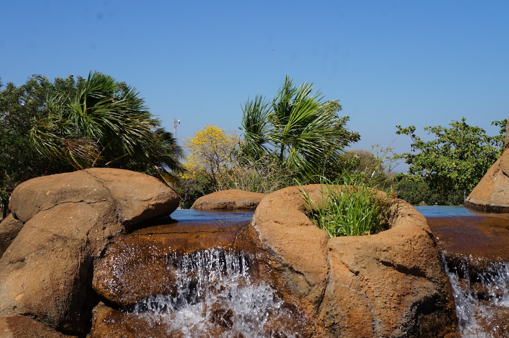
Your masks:
M177 138L238 131L240 103L288 74L340 99L353 146L389 146L395 125L497 129L509 115L509 2L5 1L0 77L114 76ZM398 136L397 152L410 150Z

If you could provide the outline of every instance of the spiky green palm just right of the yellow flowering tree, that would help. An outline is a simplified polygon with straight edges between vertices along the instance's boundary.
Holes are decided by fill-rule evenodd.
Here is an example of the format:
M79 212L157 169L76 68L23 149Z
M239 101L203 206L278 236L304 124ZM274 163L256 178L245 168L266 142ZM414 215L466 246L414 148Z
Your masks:
M324 101L312 83L295 86L287 76L272 101L257 95L242 107L241 150L250 163L274 157L302 180L337 173L345 147L360 136L338 117L338 100Z

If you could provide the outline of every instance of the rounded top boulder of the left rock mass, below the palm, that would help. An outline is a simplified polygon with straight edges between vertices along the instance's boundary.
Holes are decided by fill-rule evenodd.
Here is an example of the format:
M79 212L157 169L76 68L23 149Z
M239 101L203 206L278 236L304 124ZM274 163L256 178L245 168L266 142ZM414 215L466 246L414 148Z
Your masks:
M22 192L20 192L20 190ZM175 191L158 179L122 169L91 168L23 182L14 189L9 207L15 218L28 221L37 212L62 203L114 203L124 226L175 211Z

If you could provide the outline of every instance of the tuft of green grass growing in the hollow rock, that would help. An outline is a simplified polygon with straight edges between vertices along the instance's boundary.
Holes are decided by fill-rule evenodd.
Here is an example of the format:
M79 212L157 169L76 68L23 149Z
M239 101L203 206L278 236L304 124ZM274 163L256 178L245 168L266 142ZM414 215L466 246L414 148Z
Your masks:
M365 185L321 186L318 201L302 192L308 217L330 237L370 235L389 228L392 204L377 190Z

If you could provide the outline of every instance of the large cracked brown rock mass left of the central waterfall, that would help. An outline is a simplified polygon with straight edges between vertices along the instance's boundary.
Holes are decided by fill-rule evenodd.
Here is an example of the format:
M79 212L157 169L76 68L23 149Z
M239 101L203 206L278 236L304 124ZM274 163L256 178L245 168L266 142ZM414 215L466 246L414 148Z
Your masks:
M112 238L177 206L162 182L118 169L20 184L10 207L24 224L0 259L0 316L22 314L61 332L86 333L97 303L93 261Z

